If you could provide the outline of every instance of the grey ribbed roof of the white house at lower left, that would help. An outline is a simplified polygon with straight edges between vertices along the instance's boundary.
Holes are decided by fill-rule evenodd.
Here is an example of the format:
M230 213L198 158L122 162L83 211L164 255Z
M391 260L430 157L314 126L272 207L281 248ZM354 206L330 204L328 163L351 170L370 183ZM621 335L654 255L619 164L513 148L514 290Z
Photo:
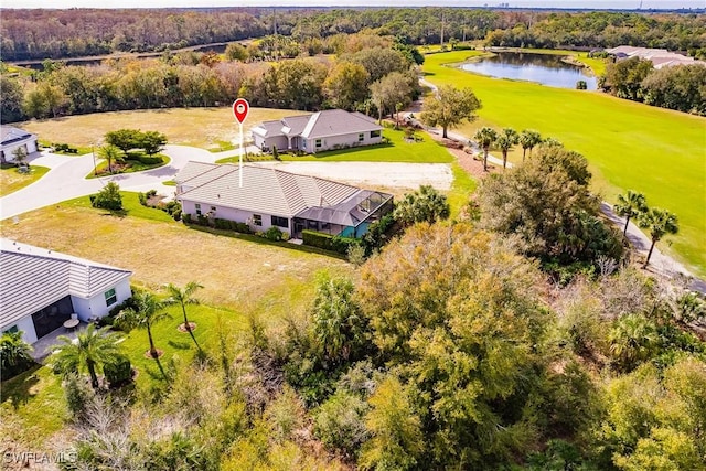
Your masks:
M131 271L0 238L0 329L71 295L92 298Z

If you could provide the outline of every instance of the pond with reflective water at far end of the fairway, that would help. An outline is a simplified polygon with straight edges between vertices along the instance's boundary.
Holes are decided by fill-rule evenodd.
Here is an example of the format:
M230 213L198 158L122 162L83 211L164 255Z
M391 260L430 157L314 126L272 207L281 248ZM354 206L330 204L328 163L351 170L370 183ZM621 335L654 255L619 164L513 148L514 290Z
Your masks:
M597 88L596 77L588 69L563 62L564 56L553 54L530 54L499 52L491 57L461 65L461 68L491 77L537 82L560 88L576 88L578 81L586 81L589 90Z

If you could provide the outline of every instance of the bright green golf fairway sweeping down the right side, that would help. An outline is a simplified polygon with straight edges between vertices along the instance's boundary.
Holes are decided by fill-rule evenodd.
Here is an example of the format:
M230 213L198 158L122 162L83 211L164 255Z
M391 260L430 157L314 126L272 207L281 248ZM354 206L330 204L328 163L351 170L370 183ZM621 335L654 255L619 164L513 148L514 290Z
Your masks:
M628 189L680 218L680 234L661 248L697 275L706 276L706 119L622 100L601 93L552 88L471 74L446 64L480 51L426 57L427 79L470 86L482 100L480 119L462 126L471 136L480 126L533 128L559 139L590 162L596 191L610 202ZM515 150L511 161L521 159Z

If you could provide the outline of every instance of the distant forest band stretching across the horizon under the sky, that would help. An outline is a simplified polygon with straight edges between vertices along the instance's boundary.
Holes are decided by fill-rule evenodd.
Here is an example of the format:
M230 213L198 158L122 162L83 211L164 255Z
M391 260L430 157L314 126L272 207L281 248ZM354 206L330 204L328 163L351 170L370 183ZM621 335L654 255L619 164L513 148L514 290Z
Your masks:
M265 34L307 42L372 32L416 45L485 40L516 47L612 47L621 44L703 56L699 14L552 12L460 8L212 10L8 10L0 24L4 61L115 52L168 51Z

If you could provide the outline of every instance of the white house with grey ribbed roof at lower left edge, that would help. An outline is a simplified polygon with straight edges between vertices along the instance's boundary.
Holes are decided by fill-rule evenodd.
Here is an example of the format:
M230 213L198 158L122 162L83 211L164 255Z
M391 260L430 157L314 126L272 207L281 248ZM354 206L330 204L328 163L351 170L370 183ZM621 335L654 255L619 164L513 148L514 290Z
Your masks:
M0 331L28 343L77 314L101 318L130 296L131 271L0 238Z

